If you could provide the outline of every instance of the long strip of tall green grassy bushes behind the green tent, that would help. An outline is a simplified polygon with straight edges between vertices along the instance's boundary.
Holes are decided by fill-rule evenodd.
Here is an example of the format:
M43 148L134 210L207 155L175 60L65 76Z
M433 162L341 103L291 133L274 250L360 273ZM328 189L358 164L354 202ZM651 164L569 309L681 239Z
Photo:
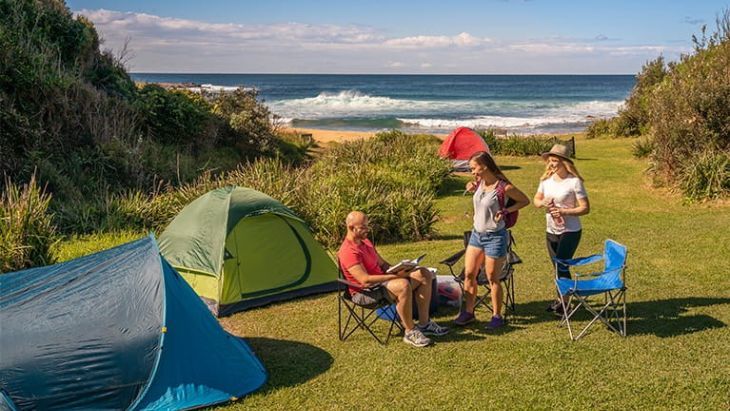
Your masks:
M370 140L339 144L308 167L261 158L225 173L206 172L193 182L147 196L112 197L105 212L117 216L114 221L124 221L127 229L160 232L191 201L233 185L281 201L329 246L342 240L343 221L351 210L371 216L376 241L428 238L438 213L435 193L450 172L448 162L436 155L438 141L433 136L385 132ZM112 221L104 228L116 226Z

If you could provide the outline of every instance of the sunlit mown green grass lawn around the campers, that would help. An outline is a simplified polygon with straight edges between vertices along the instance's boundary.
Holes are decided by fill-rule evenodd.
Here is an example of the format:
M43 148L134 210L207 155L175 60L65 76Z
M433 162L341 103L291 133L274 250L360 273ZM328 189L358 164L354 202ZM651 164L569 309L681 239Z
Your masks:
M579 140L577 166L592 212L582 218L577 255L612 238L628 246L628 337L594 326L573 342L544 311L554 296L542 211L522 211L514 229L517 315L499 333L454 328L429 348L356 333L337 338L335 294L253 309L221 319L245 337L270 379L220 409L730 409L730 206L687 205L651 189L627 140ZM499 157L530 198L537 158ZM461 247L470 197L455 177L438 199L430 241L381 245L396 261L426 252L425 264ZM344 216L343 216L344 218ZM68 259L128 241L135 233L79 238L58 247ZM436 320L452 326L453 308Z

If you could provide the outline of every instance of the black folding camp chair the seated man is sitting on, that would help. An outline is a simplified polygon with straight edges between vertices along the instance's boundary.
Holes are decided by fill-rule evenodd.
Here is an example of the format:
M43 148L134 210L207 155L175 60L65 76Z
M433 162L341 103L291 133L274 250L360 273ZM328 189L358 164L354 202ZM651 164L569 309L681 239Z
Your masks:
M362 329L367 331L380 344L387 344L394 333L397 334L400 331L403 331L403 326L398 321L399 318L395 310L395 304L391 303L386 298L381 298L372 304L360 305L355 303L352 300L352 295L350 293L351 287L358 291L372 291L382 286L378 285L375 287L364 288L351 283L344 278L339 261L338 266L340 269L339 278L337 279L337 325L339 328L340 341L345 341L356 330ZM379 310L381 316L386 318L388 322L388 332L384 337L379 336L373 329L375 323L380 320L380 317L378 316Z

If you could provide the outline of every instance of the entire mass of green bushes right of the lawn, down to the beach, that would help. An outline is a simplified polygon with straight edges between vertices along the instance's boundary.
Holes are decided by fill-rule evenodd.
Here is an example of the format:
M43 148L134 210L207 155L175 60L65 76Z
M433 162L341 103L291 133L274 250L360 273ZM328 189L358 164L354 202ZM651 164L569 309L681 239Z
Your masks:
M688 200L730 193L730 9L693 52L667 64L647 62L618 116L599 120L589 137L638 137L633 153L649 160L655 186Z

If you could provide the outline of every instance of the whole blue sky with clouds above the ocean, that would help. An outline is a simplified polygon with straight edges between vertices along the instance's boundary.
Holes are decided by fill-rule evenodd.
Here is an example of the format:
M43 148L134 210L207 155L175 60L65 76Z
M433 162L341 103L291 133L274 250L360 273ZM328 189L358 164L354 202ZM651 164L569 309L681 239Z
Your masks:
M74 0L132 71L634 74L726 1Z

